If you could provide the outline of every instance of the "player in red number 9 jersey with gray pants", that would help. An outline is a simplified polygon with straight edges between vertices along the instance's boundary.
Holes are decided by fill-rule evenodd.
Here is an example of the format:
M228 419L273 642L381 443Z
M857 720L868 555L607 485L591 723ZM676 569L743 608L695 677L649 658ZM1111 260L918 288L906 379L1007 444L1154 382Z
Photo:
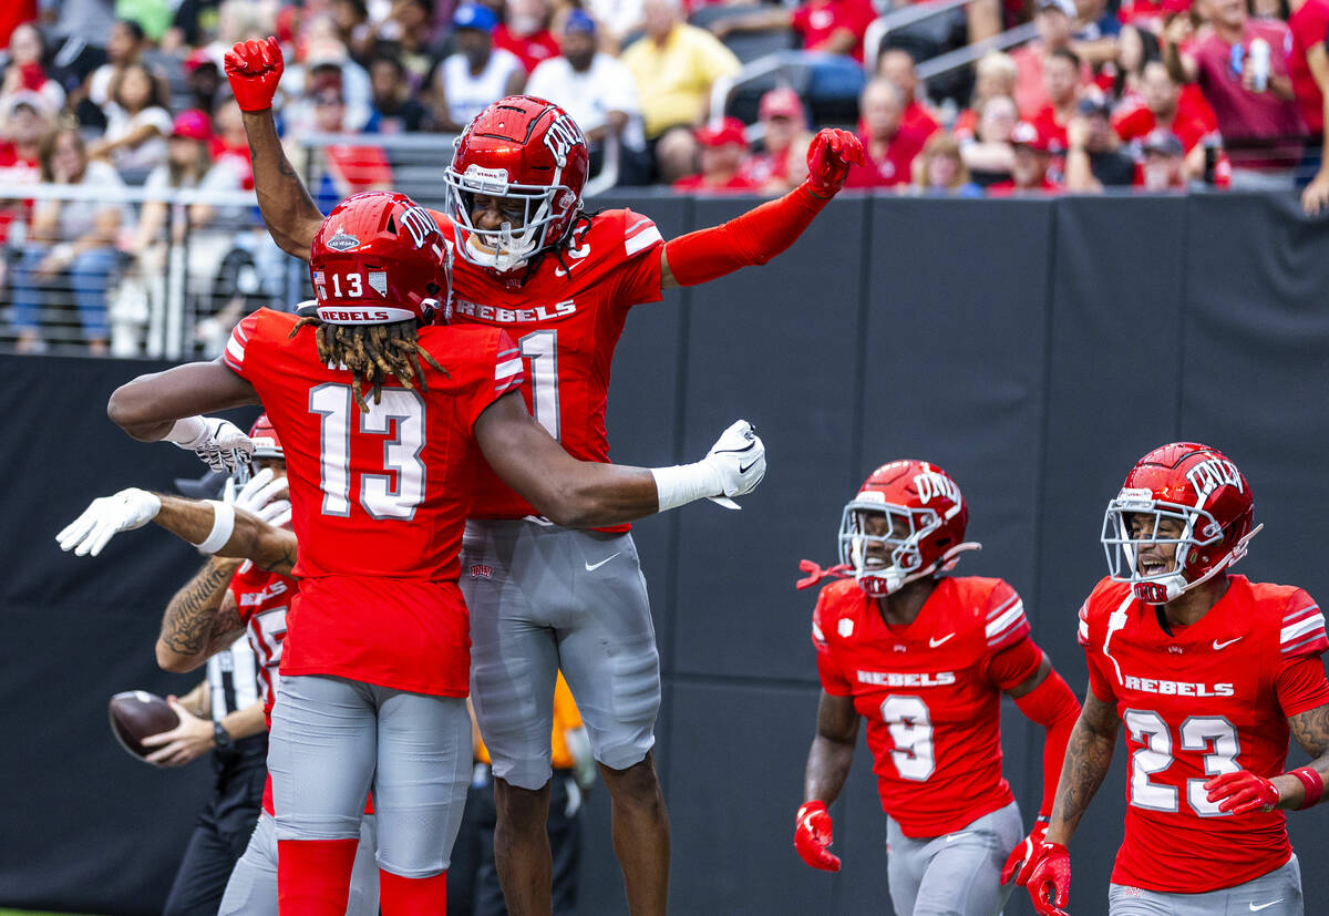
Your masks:
M859 722L886 818L886 871L896 913L995 916L1002 887L1042 839L1079 703L1029 635L1025 606L999 578L944 577L965 550L960 487L926 461L872 472L845 505L840 565L812 614L821 701L804 774L793 847L813 868L839 871L831 814L849 775ZM1042 725L1043 804L1025 840L1001 775L1002 693Z

